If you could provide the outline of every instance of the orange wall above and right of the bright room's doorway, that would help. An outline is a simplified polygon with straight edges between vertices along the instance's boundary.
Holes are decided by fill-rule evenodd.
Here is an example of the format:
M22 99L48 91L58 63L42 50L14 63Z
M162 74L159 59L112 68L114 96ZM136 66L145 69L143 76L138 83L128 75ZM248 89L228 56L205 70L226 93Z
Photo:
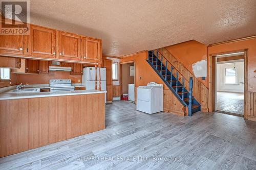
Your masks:
M248 91L256 92L256 38L208 47L208 54L248 49Z

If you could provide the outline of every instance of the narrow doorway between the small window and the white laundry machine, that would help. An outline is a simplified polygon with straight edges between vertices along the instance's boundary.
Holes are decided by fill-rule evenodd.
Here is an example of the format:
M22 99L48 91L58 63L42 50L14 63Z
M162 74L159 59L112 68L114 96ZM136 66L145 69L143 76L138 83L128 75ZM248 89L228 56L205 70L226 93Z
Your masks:
M127 100L135 102L135 62L120 63L121 67L121 94Z

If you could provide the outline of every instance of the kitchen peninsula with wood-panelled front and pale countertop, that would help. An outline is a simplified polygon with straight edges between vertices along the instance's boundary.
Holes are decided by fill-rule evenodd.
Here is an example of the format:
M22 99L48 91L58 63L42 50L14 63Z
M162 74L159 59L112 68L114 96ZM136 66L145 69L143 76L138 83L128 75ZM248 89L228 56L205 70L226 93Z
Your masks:
M99 90L0 94L0 157L105 128Z

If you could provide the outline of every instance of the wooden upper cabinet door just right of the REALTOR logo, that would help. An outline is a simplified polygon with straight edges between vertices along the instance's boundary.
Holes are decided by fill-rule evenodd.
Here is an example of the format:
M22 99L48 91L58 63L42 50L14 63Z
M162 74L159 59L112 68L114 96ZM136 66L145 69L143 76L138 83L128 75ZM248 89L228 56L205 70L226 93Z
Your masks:
M33 57L56 58L56 31L31 25L28 50Z

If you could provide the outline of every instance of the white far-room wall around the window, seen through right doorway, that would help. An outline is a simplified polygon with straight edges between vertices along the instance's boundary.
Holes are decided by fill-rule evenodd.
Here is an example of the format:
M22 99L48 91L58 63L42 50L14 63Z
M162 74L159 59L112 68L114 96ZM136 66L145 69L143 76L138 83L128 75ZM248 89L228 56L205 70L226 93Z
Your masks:
M225 68L237 68L236 84L225 84ZM244 62L217 63L217 91L244 92Z

